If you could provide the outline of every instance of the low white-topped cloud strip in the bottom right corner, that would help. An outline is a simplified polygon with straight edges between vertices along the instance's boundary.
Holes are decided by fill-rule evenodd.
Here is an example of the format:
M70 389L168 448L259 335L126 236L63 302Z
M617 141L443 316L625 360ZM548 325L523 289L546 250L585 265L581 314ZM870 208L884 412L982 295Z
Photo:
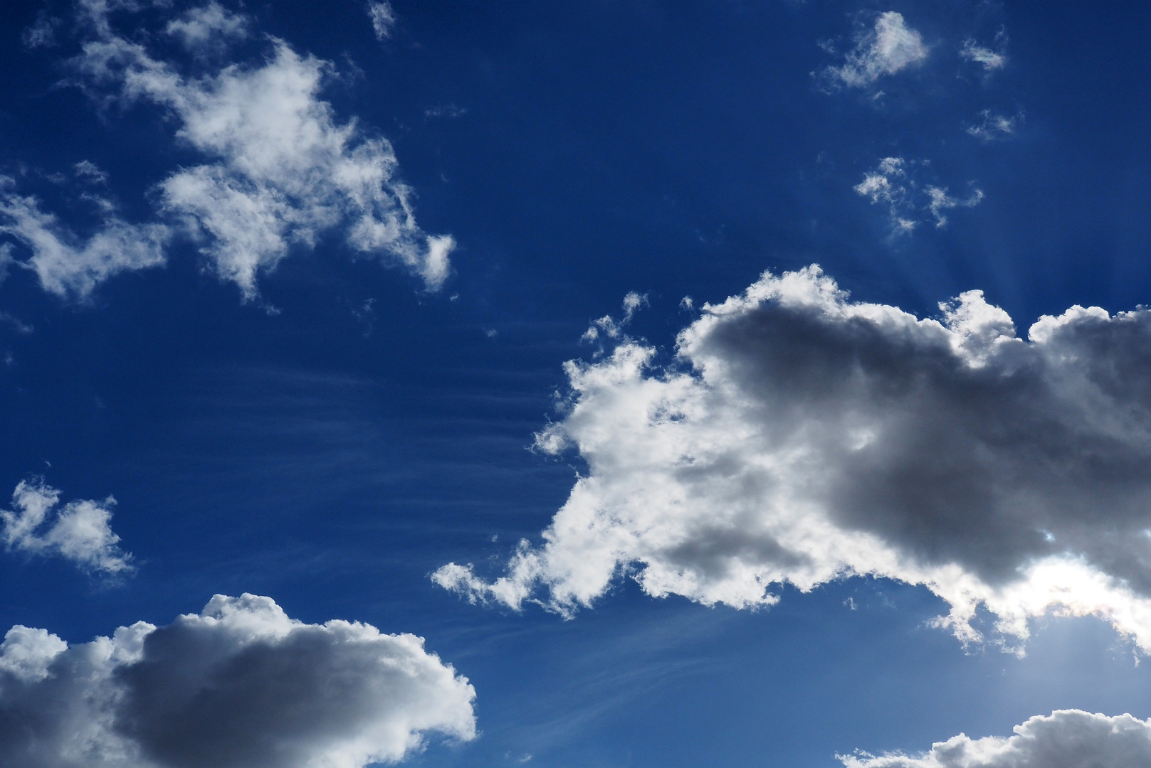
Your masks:
M924 754L839 755L846 768L1133 768L1151 765L1151 720L1057 709L1007 738L960 734Z

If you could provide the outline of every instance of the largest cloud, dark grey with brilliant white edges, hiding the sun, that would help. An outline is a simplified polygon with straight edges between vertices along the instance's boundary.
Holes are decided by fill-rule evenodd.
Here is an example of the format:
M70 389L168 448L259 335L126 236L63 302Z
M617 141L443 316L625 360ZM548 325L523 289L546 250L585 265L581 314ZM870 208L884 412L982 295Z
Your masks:
M630 339L569 362L536 445L586 474L503 576L434 581L571 614L624 575L738 608L870 575L925 585L965 642L983 606L1008 647L1054 612L1151 651L1151 310L1075 306L1029 340L981 291L940 310L852 302L817 267L765 272L706 305L670 368Z

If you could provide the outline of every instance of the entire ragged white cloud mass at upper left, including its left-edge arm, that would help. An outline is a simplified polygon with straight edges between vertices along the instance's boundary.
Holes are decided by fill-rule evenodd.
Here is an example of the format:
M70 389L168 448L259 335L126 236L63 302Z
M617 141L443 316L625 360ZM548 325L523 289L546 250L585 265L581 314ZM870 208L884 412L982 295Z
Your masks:
M78 82L99 99L168 110L177 140L201 162L157 185L157 223L129 224L108 205L87 237L15 194L8 179L0 190L0 232L28 247L23 263L46 290L83 298L116 272L161 266L176 236L196 241L214 271L247 298L258 293L258 276L291 249L331 235L357 255L405 267L429 290L442 285L455 241L417 224L391 145L365 136L355 121L340 123L319 98L330 62L273 38L258 66L230 64L190 78L176 62L114 33L102 3L84 8L93 39L71 61ZM203 53L223 51L247 26L246 17L213 2L171 21L167 32Z

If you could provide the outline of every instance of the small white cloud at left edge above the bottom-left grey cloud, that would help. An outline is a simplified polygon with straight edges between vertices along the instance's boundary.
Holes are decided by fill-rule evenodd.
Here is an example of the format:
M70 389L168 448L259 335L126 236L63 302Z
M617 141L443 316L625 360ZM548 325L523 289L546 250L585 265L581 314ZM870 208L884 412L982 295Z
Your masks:
M22 481L12 494L14 509L0 509L5 545L36 554L55 554L85 570L123 574L134 570L131 554L117 545L109 524L116 504L77 500L59 507L60 491L33 478Z

